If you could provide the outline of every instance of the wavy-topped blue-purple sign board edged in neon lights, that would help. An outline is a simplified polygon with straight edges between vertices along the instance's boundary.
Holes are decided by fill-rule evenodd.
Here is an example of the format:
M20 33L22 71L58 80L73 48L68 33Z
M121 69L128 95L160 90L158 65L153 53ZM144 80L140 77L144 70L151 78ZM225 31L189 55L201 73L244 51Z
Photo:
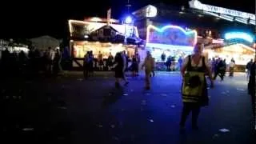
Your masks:
M147 43L158 43L174 46L194 46L197 42L197 31L186 31L180 26L148 26L146 32Z

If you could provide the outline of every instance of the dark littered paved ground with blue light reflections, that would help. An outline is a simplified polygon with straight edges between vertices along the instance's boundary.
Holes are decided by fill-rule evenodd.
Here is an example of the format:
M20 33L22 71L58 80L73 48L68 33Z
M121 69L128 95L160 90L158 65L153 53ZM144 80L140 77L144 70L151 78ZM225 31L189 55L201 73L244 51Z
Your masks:
M4 99L4 140L33 143L222 144L256 143L252 134L246 78L216 81L210 106L202 108L199 131L179 134L182 109L179 74L159 73L153 89L142 77L114 88L111 74L82 80L81 74L34 81L8 80ZM229 132L221 132L227 129Z

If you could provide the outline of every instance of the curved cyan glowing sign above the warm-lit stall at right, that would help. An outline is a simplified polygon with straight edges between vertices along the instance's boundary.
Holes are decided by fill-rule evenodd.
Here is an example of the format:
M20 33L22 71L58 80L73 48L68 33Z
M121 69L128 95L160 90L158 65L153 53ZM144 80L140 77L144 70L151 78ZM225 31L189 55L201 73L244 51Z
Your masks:
M225 34L225 39L244 39L247 42L254 42L254 38L250 34L242 33L242 32L231 32Z

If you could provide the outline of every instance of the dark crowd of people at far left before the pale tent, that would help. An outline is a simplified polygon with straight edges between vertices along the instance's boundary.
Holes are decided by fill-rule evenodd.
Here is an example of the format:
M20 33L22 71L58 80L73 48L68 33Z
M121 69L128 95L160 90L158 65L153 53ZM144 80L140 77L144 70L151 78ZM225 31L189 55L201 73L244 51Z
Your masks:
M52 49L41 53L38 49L30 50L28 54L24 51L10 52L8 49L2 51L1 72L8 76L36 76L40 72L47 75L57 75L61 70L62 54L60 50Z

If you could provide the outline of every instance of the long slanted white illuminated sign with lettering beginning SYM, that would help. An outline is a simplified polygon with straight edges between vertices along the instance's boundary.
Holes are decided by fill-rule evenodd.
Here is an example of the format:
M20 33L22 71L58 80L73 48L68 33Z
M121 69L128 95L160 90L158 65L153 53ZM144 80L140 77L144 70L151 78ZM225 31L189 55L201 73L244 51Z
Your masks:
M240 17L240 18L250 18L255 20L254 14L250 14L250 13L246 13L238 10L230 10L230 9L226 9L218 6L210 6L210 5L202 4L198 0L191 0L189 4L190 4L190 8L194 8L198 10L210 11L218 14L227 14L227 15L232 15L234 17Z

